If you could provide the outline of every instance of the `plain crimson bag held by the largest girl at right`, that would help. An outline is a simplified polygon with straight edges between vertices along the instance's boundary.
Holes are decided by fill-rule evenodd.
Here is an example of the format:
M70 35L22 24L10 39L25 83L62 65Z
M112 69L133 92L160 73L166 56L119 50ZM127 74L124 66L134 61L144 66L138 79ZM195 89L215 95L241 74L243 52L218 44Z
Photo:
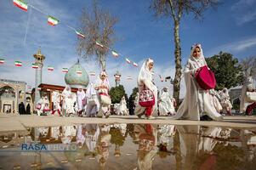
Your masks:
M200 67L200 70L196 72L196 82L205 90L215 88L216 86L214 73L208 70L207 65Z

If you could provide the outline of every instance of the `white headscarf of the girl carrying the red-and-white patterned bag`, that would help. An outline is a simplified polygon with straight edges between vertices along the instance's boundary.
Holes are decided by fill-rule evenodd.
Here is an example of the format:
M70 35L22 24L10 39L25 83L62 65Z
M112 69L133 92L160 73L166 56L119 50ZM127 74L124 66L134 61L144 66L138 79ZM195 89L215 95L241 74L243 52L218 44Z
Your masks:
M152 75L152 70L149 70L149 64L154 63L153 59L146 59L143 65L141 66L141 69L139 71L139 77L137 79L138 85L141 84L142 80L148 79L152 81L153 75Z

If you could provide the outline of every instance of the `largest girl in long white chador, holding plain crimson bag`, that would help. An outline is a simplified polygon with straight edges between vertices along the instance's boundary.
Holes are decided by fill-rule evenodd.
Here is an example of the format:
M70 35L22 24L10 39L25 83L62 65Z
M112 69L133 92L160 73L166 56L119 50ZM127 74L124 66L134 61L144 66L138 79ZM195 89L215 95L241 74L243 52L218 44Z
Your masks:
M200 116L204 115L208 115L213 120L222 119L222 116L210 103L211 97L208 90L200 88L196 82L196 71L204 65L207 65L207 63L202 54L201 45L193 45L191 48L190 59L188 59L188 63L184 70L186 86L185 99L179 106L174 119L199 121Z

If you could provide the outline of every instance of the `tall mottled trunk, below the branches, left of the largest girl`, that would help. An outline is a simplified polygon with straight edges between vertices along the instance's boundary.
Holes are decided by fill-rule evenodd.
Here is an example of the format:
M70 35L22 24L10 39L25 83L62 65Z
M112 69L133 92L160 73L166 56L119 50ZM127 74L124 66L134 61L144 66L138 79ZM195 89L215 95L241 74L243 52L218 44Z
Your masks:
M179 106L179 90L181 80L181 49L179 40L179 21L174 20L174 42L175 42L175 77L174 77L174 99Z

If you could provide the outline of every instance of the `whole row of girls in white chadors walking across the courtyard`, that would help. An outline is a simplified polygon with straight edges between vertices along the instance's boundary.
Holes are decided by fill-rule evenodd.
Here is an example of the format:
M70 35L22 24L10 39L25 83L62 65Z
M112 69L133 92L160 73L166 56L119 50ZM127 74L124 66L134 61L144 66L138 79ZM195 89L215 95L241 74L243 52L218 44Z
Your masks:
M171 116L171 119L187 120L222 120L222 114L231 115L231 102L227 88L217 92L213 88L205 89L199 85L196 76L202 67L207 66L202 53L201 44L191 47L191 55L188 59L183 76L185 78L186 94L177 111L174 98L168 93L168 88L162 88L159 93L153 82L154 60L146 59L139 71L137 84L139 92L134 100L134 113L141 118L154 119L156 116ZM208 67L207 67L208 68ZM208 68L209 70L209 68ZM249 103L246 97L247 91L254 92L252 78L247 78L242 88L241 111L250 112L256 107L255 101ZM82 116L105 116L111 115L111 98L109 95L110 83L105 71L100 72L100 77L95 83L88 85L86 93L78 88L77 95L71 93L71 87L67 86L61 94L54 94L54 111L59 115L69 116L77 113ZM44 99L48 105L48 99ZM250 104L250 105L249 105ZM247 109L246 109L247 108ZM41 109L42 110L42 109ZM122 97L120 104L114 107L117 115L128 115L125 98Z

